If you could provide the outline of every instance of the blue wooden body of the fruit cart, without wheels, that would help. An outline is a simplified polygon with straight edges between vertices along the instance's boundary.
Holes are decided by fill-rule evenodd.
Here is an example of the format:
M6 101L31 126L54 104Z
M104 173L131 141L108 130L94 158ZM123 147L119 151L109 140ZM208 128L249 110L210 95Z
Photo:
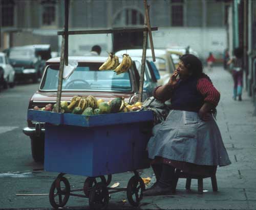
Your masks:
M94 116L29 110L31 120L45 124L45 171L99 176L150 167L146 145L152 111Z

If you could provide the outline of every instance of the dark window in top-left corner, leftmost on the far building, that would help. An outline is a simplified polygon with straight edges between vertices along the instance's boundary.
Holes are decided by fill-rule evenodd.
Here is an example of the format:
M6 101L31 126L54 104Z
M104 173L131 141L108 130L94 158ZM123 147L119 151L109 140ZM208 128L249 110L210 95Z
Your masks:
M12 27L14 25L14 1L13 0L2 0L2 26Z

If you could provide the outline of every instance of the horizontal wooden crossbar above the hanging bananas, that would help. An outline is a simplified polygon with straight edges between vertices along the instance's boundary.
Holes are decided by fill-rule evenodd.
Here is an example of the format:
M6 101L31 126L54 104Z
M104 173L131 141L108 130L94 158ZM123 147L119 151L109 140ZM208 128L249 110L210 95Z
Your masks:
M158 27L152 27L151 31L157 31ZM69 35L81 35L81 34L112 34L112 33L124 33L124 32L144 32L148 31L147 27L142 28L130 28L130 29L99 29L99 30L81 30L81 31L68 31ZM64 35L65 31L58 31L57 35Z

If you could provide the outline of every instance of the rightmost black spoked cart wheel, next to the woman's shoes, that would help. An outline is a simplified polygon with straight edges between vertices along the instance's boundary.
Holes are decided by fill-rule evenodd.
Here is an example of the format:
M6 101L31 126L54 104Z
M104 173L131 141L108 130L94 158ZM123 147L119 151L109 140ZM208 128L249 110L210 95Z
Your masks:
M129 203L133 206L138 206L143 198L144 190L145 184L140 176L133 176L130 178L126 189L126 195Z

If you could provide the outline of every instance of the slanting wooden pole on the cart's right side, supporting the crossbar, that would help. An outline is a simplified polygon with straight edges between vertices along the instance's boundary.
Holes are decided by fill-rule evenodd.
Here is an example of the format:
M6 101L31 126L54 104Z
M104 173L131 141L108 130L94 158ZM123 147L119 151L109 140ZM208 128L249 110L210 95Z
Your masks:
M144 0L146 1L146 0ZM146 10L146 8L145 8ZM147 25L146 15L144 16L144 26ZM144 84L144 73L145 73L145 62L146 62L146 44L147 44L147 31L143 32L143 45L142 45L142 59L141 59L141 70L140 70L140 87L139 87L139 99L142 101L143 84Z

